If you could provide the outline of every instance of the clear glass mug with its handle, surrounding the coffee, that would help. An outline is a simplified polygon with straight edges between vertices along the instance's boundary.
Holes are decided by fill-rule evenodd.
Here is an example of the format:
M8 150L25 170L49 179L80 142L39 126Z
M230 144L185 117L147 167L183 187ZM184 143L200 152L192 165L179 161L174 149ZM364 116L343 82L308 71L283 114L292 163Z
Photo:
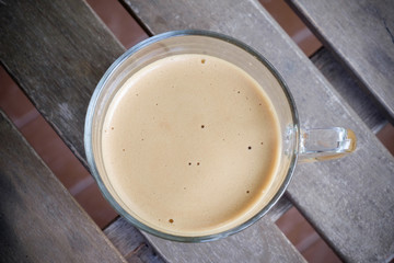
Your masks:
M276 172L264 190L264 198L236 224L201 233L173 232L144 220L124 202L112 184L103 160L104 118L123 84L140 69L160 59L181 54L200 54L223 59L244 70L264 87L278 117L281 139ZM204 62L201 60L201 62ZM202 128L202 126L201 126ZM105 130L106 132L106 130ZM183 242L217 240L251 226L278 202L292 178L297 162L327 160L355 150L355 134L345 128L302 129L292 95L278 71L260 54L229 36L207 31L167 32L141 42L121 55L99 82L89 104L84 146L88 162L100 190L112 206L139 229ZM163 157L164 158L164 157ZM188 163L189 165L192 163ZM197 163L199 165L199 163ZM154 165L154 163L152 163ZM138 171L131 171L138 172ZM212 174L215 176L215 174ZM248 192L248 191L247 191ZM173 219L170 222L173 224Z

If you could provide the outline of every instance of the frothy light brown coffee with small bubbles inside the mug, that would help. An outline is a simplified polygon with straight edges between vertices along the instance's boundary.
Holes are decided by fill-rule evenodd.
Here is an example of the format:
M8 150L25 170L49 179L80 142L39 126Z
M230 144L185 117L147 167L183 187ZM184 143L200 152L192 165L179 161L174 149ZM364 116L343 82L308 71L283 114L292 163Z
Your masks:
M102 144L124 209L178 236L228 230L260 209L281 146L257 82L232 64L193 54L134 75L112 101Z

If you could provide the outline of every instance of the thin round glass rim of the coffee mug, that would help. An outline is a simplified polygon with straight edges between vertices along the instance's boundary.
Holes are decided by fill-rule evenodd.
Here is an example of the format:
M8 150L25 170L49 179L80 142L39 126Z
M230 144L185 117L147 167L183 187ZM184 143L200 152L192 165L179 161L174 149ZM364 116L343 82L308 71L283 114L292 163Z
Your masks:
M159 231L154 228L151 228L151 227L144 225L143 222L141 222L138 219L136 219L135 217L132 217L115 201L115 198L112 196L112 194L105 186L105 184L104 184L103 180L101 179L101 175L97 171L97 167L96 167L96 163L94 160L94 153L93 153L93 144L92 144L93 122L92 121L93 121L93 116L95 113L97 99L100 98L100 94L101 94L103 88L105 87L107 80L109 79L109 77L113 75L113 72L115 72L117 70L117 68L127 58L129 58L130 56L132 56L134 54L139 52L140 49L142 49L151 44L158 43L160 41L164 41L166 38L176 37L176 36L202 36L202 37L217 38L220 41L228 42L232 45L235 45L235 46L240 47L241 49L245 50L246 53L253 55L255 58L257 58L274 75L276 80L279 82L279 84L285 93L285 96L287 98L288 105L291 111L291 115L292 115L291 117L293 121L293 130L292 132L296 133L294 134L296 135L294 136L296 147L294 147L294 152L292 152L292 155L291 155L291 161L290 161L289 169L283 179L283 182L280 184L279 190L276 192L274 197L268 202L268 204L265 205L258 213L256 213L253 217L251 217L243 224L241 224L236 227L233 227L231 229L228 229L225 231L222 231L222 232L206 235L206 236L188 237L188 236L176 236L176 235L172 235L172 233L162 232L162 231ZM233 38L231 36L224 35L224 34L220 34L220 33L211 32L211 31L202 31L202 30L183 30L183 31L170 31L170 32L161 33L155 36L149 37L149 38L138 43L134 47L129 48L128 50L126 50L120 57L118 57L111 65L111 67L106 70L106 72L103 75L100 82L97 83L96 88L94 89L94 92L90 100L86 116L85 116L84 138L83 139L84 139L85 156L86 156L90 171L91 171L93 178L95 179L95 181L99 185L99 188L102 192L102 194L104 195L104 197L116 209L116 211L119 213L119 215L121 215L124 218L126 218L129 222L131 222L137 228L139 228L148 233L151 233L153 236L163 238L163 239L167 239L167 240L172 240L172 241L179 241L179 242L207 242L207 241L222 239L222 238L229 237L231 235L234 235L234 233L237 233L237 232L244 230L245 228L252 226L254 222L259 220L264 215L266 215L277 204L277 202L280 199L280 197L285 194L285 191L288 187L288 185L291 181L293 171L296 169L296 164L297 164L297 160L298 160L299 134L300 134L299 117L298 117L296 103L290 93L290 90L289 90L287 83L285 82L285 80L282 79L282 77L279 75L278 70L263 55L260 55L258 52L256 52L248 45L244 44L243 42L237 41L236 38Z

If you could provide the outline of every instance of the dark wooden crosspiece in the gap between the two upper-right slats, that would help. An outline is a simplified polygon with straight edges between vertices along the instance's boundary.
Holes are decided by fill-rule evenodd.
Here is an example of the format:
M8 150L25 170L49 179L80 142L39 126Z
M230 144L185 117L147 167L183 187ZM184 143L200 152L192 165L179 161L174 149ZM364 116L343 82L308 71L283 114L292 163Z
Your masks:
M311 60L374 134L386 124L379 106L326 48L321 48Z

